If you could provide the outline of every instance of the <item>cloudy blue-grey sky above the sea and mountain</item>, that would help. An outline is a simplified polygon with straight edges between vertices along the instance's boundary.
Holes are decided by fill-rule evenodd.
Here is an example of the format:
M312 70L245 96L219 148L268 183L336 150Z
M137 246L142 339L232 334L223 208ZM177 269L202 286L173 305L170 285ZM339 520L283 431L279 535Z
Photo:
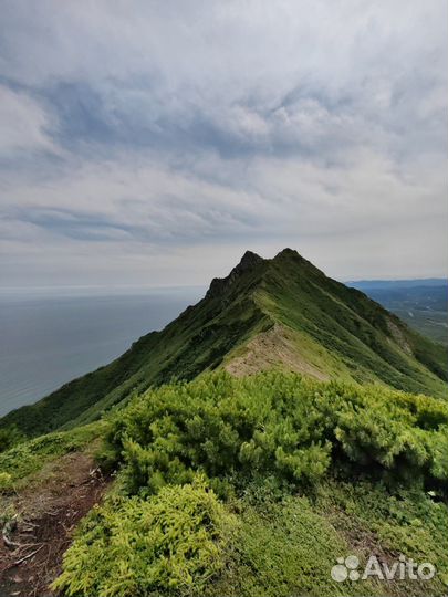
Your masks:
M0 0L0 287L446 276L447 7Z

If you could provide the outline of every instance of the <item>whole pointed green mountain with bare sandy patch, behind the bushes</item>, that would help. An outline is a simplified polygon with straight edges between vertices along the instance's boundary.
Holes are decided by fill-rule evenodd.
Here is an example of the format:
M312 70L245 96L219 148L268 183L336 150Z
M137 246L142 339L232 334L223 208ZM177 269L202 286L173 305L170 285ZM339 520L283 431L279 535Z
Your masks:
M171 378L225 367L270 367L381 383L446 397L447 350L410 331L362 292L326 277L295 251L247 252L206 296L106 367L0 420L29 436L74 427Z

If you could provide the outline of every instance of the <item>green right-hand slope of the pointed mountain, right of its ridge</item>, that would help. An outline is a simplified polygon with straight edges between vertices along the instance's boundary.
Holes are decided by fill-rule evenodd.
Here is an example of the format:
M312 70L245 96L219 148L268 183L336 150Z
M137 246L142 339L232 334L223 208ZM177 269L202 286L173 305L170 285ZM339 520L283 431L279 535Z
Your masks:
M410 331L362 292L326 277L294 251L272 261L257 300L274 321L308 334L331 353L333 363L340 362L341 377L348 369L361 383L448 395L444 347Z

